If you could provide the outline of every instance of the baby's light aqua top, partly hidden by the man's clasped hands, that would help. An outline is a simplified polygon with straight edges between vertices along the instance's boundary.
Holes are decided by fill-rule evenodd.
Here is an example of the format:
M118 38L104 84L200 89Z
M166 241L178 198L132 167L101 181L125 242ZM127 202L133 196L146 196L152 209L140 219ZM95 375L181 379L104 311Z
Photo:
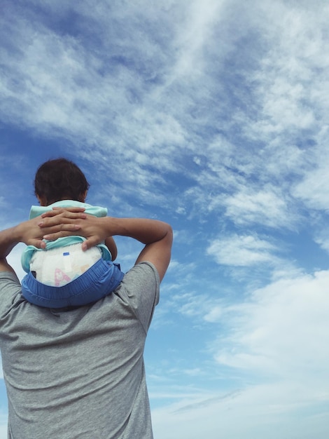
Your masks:
M73 200L62 200L57 201L56 203L52 203L50 205L32 205L31 210L29 212L29 219L33 219L38 217L39 215L42 215L45 212L48 212L49 210L52 210L52 208L85 208L85 213L89 215L94 215L95 217L106 217L107 215L107 209L101 208L96 205L91 205L87 203L80 203L80 201L73 201ZM66 245L76 244L76 243L83 243L83 241L86 241L86 239L83 236L66 236L65 238L58 238L56 241L46 241L45 249L36 248L34 245L27 245L27 248L22 252L21 257L21 263L23 269L29 273L29 263L31 261L31 257L34 254L34 252L42 252L43 250L50 250L51 248L58 248L58 247L65 247ZM104 244L98 244L97 247L102 250L102 257L106 261L112 260L112 255L110 250L106 247Z

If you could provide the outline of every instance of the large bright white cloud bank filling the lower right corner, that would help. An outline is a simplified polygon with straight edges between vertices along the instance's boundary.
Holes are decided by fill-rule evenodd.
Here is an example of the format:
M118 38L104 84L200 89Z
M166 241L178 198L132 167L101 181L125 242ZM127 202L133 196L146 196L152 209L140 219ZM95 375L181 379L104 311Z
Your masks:
M181 395L153 410L155 435L325 439L328 281L329 271L299 274L255 290L235 305L213 302L211 309L209 302L204 318L221 324L218 342L208 344L218 362L213 386L232 386L230 380L239 377L234 381L239 387ZM223 373L225 381L218 381Z

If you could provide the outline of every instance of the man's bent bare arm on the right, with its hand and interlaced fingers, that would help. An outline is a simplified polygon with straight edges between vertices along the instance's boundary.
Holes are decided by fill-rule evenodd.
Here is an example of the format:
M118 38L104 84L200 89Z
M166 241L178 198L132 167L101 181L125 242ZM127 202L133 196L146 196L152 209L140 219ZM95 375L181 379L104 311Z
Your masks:
M52 212L46 212L43 216L43 226L52 225ZM85 236L87 241L83 243L83 250L97 245L108 236L128 236L145 244L137 257L139 262L151 262L157 269L160 281L167 271L172 252L172 227L169 224L155 219L144 218L97 218L86 215L84 219L76 222L80 229L78 234ZM55 234L47 234L45 239L55 240L69 233L61 230Z

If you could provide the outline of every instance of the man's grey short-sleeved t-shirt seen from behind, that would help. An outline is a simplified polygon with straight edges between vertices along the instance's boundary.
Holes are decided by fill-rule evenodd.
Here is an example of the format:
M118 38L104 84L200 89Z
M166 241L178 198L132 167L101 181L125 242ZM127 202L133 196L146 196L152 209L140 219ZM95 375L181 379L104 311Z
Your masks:
M8 438L153 438L143 353L158 300L148 262L111 295L69 311L29 304L15 275L0 273Z

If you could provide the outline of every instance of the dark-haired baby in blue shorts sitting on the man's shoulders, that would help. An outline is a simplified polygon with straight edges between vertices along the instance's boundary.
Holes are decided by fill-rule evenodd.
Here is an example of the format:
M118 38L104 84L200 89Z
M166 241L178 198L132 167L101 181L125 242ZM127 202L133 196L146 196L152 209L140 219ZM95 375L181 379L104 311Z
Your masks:
M40 206L31 207L29 218L53 207L82 207L85 213L105 217L107 209L85 203L89 189L83 172L66 158L57 158L36 171L34 190ZM116 259L117 248L109 236L83 251L82 236L47 241L45 249L28 245L22 252L22 295L32 304L48 308L83 306L109 295L123 280Z

